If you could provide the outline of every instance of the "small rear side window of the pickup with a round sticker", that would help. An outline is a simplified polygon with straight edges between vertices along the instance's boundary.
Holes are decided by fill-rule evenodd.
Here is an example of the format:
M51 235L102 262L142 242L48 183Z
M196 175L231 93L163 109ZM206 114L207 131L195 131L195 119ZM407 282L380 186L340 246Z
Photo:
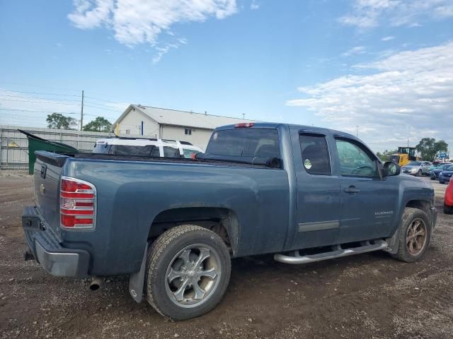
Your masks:
M331 175L331 159L328 155L326 137L321 134L299 135L302 150L302 166L309 174Z

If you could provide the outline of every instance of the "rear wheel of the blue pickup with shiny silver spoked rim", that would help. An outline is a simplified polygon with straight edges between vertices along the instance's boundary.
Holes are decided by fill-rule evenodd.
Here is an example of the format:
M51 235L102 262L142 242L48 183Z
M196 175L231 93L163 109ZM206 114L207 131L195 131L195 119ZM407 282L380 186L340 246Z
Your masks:
M147 300L156 311L185 320L211 311L229 283L228 248L214 232L195 225L168 230L147 258Z

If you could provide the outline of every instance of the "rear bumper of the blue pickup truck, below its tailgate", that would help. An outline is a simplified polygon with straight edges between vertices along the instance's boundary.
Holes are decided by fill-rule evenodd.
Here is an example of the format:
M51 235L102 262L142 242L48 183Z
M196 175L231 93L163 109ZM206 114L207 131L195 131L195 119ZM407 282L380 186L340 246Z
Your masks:
M30 251L42 268L56 277L86 278L90 254L82 249L67 249L33 206L23 209L22 227Z

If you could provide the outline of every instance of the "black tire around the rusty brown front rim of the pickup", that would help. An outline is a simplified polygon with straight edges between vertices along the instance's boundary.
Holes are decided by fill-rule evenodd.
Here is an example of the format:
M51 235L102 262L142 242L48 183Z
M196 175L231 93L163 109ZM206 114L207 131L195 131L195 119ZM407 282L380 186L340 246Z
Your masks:
M413 222L423 222L425 227L425 241L423 246L418 250L417 253L413 254L409 250L408 246L408 229ZM431 224L428 215L423 210L418 208L406 207L404 208L403 218L401 219L401 232L398 241L398 252L393 255L394 258L404 261L406 263L413 263L414 261L420 261L425 255L426 250L430 246L431 239Z

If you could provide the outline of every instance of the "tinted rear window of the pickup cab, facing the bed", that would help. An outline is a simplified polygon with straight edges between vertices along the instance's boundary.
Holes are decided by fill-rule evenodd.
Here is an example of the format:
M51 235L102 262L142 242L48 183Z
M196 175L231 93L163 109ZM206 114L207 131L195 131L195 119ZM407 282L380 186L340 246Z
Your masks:
M232 157L278 157L276 129L226 129L212 133L207 154Z

